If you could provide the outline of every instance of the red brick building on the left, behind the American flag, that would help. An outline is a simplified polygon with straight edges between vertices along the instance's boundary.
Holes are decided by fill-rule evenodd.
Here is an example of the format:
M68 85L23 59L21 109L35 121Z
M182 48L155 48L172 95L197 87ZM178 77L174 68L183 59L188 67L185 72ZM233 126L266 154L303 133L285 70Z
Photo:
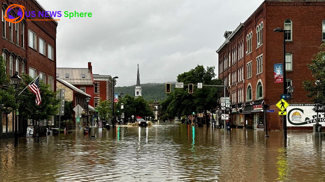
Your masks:
M22 5L26 11L46 11L35 0L1 0L0 52L6 60L6 73L12 76L17 71L19 75L26 73L32 77L40 74L40 79L56 89L56 21L27 21L32 17L24 17L19 23L7 22L4 19L6 9L11 4ZM9 12L18 17L13 10ZM44 17L50 19L51 17ZM13 126L10 120L12 113L1 114L0 138L13 136ZM21 119L18 130L23 131Z

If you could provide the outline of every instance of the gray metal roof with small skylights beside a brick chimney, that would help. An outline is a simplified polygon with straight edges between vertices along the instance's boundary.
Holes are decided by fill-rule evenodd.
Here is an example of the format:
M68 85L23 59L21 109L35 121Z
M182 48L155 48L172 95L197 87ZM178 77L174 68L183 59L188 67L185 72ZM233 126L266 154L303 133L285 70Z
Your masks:
M94 83L92 73L88 68L57 68L57 74L59 74L57 78L72 85L93 85ZM69 77L65 74L69 74ZM82 78L82 74L85 74L85 78Z

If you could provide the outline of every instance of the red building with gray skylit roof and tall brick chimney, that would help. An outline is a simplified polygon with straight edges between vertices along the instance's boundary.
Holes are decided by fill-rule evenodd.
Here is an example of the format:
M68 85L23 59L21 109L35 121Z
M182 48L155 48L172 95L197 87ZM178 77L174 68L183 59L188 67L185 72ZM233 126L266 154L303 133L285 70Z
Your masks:
M56 77L65 80L71 85L91 96L89 105L94 107L94 78L91 62L88 68L57 68Z

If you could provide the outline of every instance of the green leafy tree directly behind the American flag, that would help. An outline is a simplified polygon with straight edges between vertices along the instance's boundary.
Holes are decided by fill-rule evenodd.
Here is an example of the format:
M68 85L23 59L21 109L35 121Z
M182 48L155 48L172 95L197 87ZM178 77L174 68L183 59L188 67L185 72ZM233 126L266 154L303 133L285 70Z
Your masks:
M24 89L27 84L31 83L33 78L27 74L22 74L21 78L24 82L19 85L19 90ZM60 100L56 98L49 85L40 82L42 104L40 106L35 103L35 95L26 88L18 97L19 114L26 116L28 119L43 120L49 119L51 116L57 115L60 107Z

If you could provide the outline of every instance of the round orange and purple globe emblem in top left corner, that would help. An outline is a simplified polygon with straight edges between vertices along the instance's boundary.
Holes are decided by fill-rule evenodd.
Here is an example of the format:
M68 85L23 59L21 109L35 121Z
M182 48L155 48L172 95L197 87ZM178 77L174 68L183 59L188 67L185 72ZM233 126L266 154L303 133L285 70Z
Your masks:
M6 21L11 23L19 23L25 16L25 7L22 5L10 5L7 7L6 12L4 14L4 18Z

